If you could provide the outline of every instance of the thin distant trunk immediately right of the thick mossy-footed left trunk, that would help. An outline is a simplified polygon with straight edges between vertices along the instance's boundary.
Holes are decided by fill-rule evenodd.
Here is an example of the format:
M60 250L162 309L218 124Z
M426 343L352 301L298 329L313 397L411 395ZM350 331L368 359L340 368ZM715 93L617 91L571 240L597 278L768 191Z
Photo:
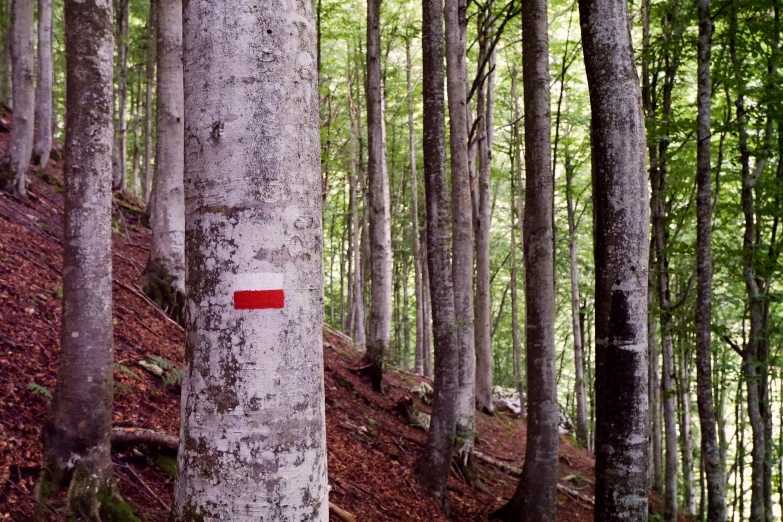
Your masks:
M125 190L128 169L128 44L130 40L130 0L118 0L117 12L117 118L112 156L112 189Z

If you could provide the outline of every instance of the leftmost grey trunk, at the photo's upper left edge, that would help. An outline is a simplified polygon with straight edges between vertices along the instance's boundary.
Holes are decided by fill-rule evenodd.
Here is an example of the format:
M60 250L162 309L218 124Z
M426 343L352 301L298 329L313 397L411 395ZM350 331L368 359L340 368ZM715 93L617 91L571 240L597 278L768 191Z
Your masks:
M32 0L11 2L11 67L14 114L8 150L0 163L0 188L27 198L25 178L33 152L35 73L33 68Z

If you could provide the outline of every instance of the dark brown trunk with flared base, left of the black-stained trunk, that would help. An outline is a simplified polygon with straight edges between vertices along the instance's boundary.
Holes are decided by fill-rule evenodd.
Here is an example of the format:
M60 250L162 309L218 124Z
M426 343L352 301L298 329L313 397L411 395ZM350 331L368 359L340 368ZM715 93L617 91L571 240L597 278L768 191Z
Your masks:
M522 81L525 108L525 338L527 444L522 477L503 520L555 520L557 375L555 367L554 172L551 164L549 40L546 0L523 0Z

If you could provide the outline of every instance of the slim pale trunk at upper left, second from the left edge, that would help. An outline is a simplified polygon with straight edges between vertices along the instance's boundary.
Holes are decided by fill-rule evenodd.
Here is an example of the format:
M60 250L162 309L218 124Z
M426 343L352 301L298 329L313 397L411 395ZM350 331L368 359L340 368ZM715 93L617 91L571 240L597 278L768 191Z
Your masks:
M35 121L38 132L33 146L33 163L45 167L52 151L52 0L38 0Z

